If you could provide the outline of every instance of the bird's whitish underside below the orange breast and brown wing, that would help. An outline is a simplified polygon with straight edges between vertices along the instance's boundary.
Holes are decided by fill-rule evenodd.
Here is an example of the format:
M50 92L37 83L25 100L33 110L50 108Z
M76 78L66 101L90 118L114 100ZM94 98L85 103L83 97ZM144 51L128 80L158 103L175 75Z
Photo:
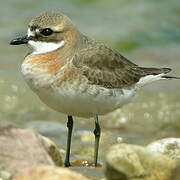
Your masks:
M92 117L103 115L120 108L131 101L134 87L107 89L86 81L64 82L60 87L56 77L43 71L27 72L22 66L22 73L28 85L39 98L52 109L72 116Z

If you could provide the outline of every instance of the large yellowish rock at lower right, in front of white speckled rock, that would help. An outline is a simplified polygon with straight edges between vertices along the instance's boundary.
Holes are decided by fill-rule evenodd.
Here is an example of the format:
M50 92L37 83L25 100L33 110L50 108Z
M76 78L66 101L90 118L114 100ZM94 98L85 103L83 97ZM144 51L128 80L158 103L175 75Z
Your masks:
M136 145L117 144L106 155L108 180L171 180L171 158Z

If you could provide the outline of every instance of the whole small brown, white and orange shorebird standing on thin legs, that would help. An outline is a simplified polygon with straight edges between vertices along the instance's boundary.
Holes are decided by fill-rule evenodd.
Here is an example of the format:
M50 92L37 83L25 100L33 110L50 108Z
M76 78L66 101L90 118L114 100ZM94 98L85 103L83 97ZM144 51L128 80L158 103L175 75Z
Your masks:
M131 102L136 90L167 76L170 68L140 67L103 43L77 30L71 20L56 12L43 12L28 25L27 35L11 45L27 44L31 52L22 63L30 88L55 111L67 114L65 166L70 166L73 118L94 117L97 166L101 134L98 115Z

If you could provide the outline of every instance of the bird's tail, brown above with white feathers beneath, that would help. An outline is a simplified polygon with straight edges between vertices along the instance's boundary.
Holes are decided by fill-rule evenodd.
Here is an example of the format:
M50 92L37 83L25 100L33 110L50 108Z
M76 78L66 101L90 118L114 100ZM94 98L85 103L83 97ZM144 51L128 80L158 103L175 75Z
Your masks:
M158 81L161 79L180 79L180 77L165 75L171 71L170 68L144 68L144 67L140 67L140 69L143 71L143 76L136 83L136 89L138 89L138 88L140 88L146 84L150 84L154 81Z

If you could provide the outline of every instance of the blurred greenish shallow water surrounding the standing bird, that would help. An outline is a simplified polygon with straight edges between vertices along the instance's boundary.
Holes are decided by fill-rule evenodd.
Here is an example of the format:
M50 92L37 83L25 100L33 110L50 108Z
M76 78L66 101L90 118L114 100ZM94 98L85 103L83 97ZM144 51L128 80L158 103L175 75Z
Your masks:
M28 49L9 46L26 33L29 20L44 10L67 14L85 34L105 42L141 66L170 67L180 76L179 0L6 0L0 7L0 120L32 128L66 144L66 116L42 104L25 84L20 65ZM180 82L156 82L140 90L134 101L100 117L100 163L108 147L126 142L146 145L164 137L180 137ZM93 119L75 118L72 160L93 160ZM63 152L63 151L62 151ZM103 168L75 168L103 177Z

